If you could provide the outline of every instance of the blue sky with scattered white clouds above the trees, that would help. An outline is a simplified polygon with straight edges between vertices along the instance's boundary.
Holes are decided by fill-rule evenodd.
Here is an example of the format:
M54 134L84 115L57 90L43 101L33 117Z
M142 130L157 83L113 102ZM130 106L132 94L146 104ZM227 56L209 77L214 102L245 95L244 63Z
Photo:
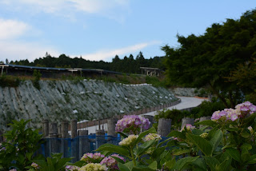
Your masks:
M0 61L82 57L111 62L118 54L163 56L176 35L204 34L238 19L255 0L0 0Z

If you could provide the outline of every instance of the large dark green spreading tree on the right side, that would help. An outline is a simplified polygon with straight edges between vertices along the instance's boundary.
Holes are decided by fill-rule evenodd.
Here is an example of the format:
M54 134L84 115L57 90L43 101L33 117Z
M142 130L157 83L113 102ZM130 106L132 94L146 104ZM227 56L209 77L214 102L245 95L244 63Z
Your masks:
M203 35L177 35L180 46L162 47L166 52L166 74L172 84L206 86L226 107L234 107L241 88L226 77L238 64L251 61L256 48L256 10L238 20L214 23ZM228 99L228 100L227 100Z

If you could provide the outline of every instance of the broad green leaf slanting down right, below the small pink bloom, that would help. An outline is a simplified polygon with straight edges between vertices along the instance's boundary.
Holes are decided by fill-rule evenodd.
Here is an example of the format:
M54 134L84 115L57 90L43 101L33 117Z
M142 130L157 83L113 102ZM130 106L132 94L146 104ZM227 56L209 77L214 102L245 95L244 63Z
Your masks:
M186 138L194 145L197 145L198 149L200 149L206 156L212 155L213 146L209 141L206 141L205 138L190 133L186 133Z

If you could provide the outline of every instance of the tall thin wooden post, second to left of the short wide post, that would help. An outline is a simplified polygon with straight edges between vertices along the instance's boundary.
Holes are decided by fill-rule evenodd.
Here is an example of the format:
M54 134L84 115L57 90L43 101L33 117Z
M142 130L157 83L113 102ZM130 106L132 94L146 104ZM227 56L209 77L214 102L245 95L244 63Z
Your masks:
M69 122L68 121L62 121L62 153L63 157L69 157L68 156L68 138L69 137Z

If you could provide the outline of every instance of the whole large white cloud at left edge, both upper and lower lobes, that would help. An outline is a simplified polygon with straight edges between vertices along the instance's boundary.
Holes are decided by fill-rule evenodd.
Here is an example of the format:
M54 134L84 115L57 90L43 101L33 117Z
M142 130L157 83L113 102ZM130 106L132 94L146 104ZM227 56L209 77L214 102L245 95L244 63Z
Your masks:
M58 50L50 46L44 46L38 42L18 41L22 36L37 32L32 26L17 20L0 18L0 61L15 61L28 59L33 61L46 51L53 55L58 55Z

